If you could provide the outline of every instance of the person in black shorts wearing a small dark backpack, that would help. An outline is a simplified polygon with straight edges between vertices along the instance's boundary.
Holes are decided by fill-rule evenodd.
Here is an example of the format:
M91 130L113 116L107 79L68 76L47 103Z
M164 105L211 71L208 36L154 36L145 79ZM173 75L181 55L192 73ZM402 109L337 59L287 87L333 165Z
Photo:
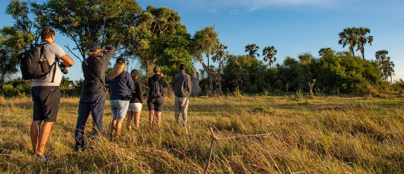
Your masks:
M166 78L163 77L159 66L153 68L153 73L154 75L147 80L149 85L147 108L149 109L150 127L153 125L154 117L156 117L157 125L161 124L161 113L164 107L163 88L166 87Z

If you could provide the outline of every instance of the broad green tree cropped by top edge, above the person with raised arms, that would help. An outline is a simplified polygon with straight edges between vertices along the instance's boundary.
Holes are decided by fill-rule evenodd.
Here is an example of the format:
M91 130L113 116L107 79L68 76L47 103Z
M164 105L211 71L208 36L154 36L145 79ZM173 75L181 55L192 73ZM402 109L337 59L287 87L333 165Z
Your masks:
M125 49L128 28L136 25L142 10L135 0L48 0L33 7L38 21L74 41L80 61L93 43Z

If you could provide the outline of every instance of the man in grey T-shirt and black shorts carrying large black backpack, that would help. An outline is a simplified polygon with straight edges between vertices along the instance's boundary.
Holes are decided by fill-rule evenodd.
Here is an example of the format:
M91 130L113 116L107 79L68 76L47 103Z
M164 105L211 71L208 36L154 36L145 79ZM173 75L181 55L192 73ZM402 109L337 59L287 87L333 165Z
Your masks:
M48 162L44 154L45 144L56 121L60 105L61 68L73 66L73 60L55 43L55 31L46 28L41 33L42 43L19 55L21 74L24 80L33 79L32 101L34 102L31 141L36 158ZM42 121L44 122L41 126Z

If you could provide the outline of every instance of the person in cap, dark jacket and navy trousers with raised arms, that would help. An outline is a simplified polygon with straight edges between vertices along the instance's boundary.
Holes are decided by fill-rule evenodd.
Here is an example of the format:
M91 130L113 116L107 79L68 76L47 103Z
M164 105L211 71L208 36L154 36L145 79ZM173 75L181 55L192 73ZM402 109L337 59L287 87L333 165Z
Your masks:
M84 127L88 116L93 117L93 135L103 134L102 120L105 106L105 68L108 61L114 55L114 47L101 46L97 43L90 45L87 51L88 57L82 62L84 75L83 89L81 91L80 102L78 105L78 117L74 137L76 140L75 148L80 150L84 148Z

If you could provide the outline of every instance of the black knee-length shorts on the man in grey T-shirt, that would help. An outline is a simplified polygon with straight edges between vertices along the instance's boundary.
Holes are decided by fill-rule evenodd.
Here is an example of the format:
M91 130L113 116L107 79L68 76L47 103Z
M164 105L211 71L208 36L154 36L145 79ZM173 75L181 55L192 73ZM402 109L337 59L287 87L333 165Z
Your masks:
M60 104L59 86L32 86L33 121L55 122Z

